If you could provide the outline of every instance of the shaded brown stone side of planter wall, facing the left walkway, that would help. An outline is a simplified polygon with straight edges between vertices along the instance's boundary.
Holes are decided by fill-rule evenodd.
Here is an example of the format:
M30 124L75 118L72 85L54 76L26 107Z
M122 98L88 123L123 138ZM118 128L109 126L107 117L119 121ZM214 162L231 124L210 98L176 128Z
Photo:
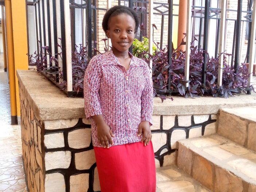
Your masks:
M44 147L43 122L35 115L31 103L27 100L24 87L20 87L21 137L24 170L27 186L31 192L44 192Z

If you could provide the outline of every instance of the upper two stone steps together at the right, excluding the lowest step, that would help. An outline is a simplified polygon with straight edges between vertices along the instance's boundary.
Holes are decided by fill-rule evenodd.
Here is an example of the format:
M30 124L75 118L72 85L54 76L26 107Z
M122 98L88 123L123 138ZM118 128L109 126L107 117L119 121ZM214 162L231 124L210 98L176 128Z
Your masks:
M178 141L177 165L214 192L256 192L256 108L221 109L217 133Z

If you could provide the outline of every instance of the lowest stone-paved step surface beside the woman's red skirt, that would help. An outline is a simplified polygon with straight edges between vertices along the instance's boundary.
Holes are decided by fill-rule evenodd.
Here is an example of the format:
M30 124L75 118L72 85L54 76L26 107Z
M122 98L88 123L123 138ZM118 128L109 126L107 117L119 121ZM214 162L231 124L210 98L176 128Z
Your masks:
M156 169L156 192L212 192L176 165Z

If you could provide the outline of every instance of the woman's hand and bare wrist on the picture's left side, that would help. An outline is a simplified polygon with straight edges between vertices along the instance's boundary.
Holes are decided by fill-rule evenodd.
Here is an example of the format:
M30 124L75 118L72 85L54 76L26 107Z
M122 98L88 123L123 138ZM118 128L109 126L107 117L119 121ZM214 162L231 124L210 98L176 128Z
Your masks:
M114 145L112 137L115 135L112 133L109 126L106 124L102 115L93 116L94 121L97 125L98 141L104 148L109 148L110 145Z

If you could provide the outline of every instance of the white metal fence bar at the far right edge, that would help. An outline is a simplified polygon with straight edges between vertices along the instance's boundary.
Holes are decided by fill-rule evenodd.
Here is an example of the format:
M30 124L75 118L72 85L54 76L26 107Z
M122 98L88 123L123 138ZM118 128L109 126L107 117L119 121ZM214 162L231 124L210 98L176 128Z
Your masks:
M256 33L256 2L253 2L253 11L252 11L252 31L251 31L251 42L250 42L250 55L249 55L249 79L248 79L248 87L252 85L252 73L253 73L253 61L255 57L255 33Z

